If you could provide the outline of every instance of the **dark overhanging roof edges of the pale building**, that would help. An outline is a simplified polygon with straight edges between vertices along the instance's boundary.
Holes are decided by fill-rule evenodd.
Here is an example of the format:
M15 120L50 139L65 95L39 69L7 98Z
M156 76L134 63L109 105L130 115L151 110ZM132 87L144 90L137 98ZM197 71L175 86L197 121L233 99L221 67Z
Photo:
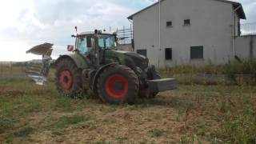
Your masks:
M161 2L163 2L163 1L166 1L166 0L161 0ZM237 13L238 13L239 18L241 18L241 19L246 19L246 14L245 14L245 12L244 12L244 10L243 10L243 8L242 8L242 4L241 4L241 3L239 3L239 2L233 2L233 1L227 1L227 0L214 0L214 1L231 3L231 4L233 5L233 7L234 7L234 10L239 7L238 10L237 10ZM128 19L133 20L134 15L140 14L142 11L147 10L147 9L150 9L151 7L153 7L153 6L155 6L155 5L158 5L158 2L155 2L154 4L152 4L152 5L150 5L150 6L147 6L146 8L144 8L144 9L142 9L142 10L139 10L138 12L136 12L136 13L130 15L130 16L128 17Z

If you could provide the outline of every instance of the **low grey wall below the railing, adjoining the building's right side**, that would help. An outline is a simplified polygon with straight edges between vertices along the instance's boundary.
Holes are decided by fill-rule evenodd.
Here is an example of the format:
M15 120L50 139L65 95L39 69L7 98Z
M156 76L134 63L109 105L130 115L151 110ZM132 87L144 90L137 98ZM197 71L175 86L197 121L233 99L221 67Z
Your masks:
M234 42L239 58L256 58L256 35L237 37Z

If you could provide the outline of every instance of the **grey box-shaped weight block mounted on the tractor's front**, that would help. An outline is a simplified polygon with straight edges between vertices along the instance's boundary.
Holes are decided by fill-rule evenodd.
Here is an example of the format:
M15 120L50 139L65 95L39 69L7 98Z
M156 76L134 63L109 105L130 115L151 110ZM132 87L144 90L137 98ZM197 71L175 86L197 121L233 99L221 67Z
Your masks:
M177 88L177 82L174 78L163 78L149 80L150 93L158 93L160 91L174 90Z

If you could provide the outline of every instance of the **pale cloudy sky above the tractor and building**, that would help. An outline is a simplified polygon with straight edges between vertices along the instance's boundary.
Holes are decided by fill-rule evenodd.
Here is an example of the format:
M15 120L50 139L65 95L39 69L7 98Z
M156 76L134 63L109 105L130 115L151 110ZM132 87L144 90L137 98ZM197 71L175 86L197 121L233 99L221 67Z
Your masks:
M149 6L151 0L3 0L0 5L0 61L25 61L30 47L52 42L54 58L73 44L78 31L112 30L130 26L130 14ZM256 22L256 0L242 2L246 21Z

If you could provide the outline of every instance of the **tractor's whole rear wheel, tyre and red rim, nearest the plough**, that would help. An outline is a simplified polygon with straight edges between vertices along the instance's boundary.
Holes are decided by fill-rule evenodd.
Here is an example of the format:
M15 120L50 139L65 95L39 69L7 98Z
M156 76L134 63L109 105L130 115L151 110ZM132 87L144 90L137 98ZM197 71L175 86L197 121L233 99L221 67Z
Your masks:
M55 85L60 94L70 98L82 98L81 70L68 58L60 60L55 74Z

